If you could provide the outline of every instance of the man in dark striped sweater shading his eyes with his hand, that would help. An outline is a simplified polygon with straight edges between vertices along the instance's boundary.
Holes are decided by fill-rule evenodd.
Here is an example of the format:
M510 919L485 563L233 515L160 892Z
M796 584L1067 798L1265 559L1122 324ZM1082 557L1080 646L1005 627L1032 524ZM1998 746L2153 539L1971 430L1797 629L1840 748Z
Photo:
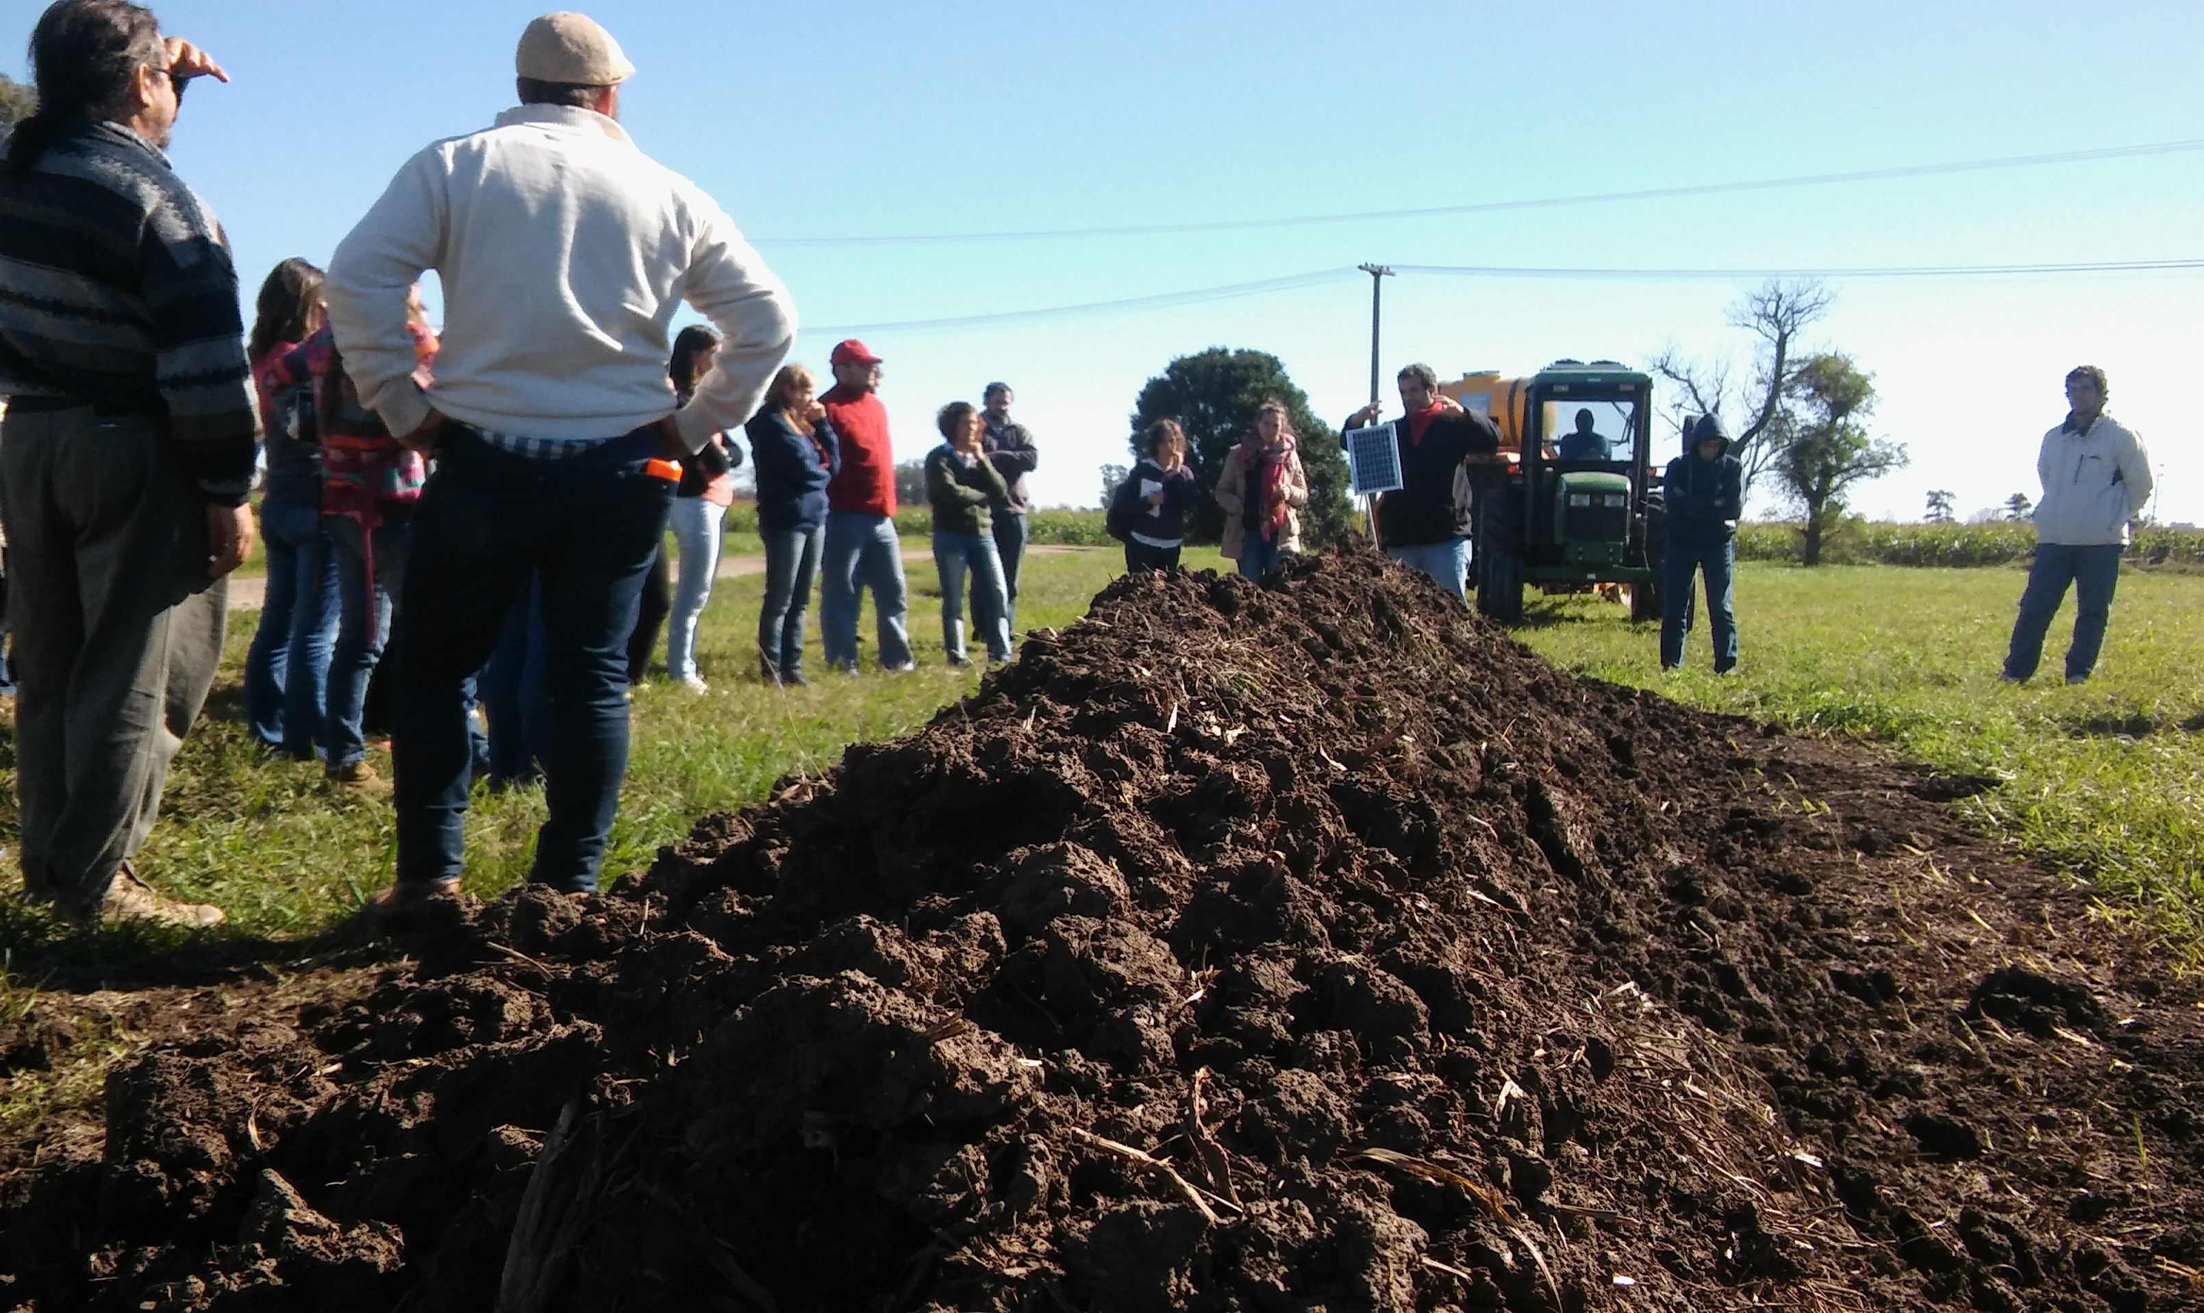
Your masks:
M37 112L0 163L0 520L22 875L75 925L214 925L130 857L223 654L258 416L220 227L163 148L223 70L121 0L31 35Z

